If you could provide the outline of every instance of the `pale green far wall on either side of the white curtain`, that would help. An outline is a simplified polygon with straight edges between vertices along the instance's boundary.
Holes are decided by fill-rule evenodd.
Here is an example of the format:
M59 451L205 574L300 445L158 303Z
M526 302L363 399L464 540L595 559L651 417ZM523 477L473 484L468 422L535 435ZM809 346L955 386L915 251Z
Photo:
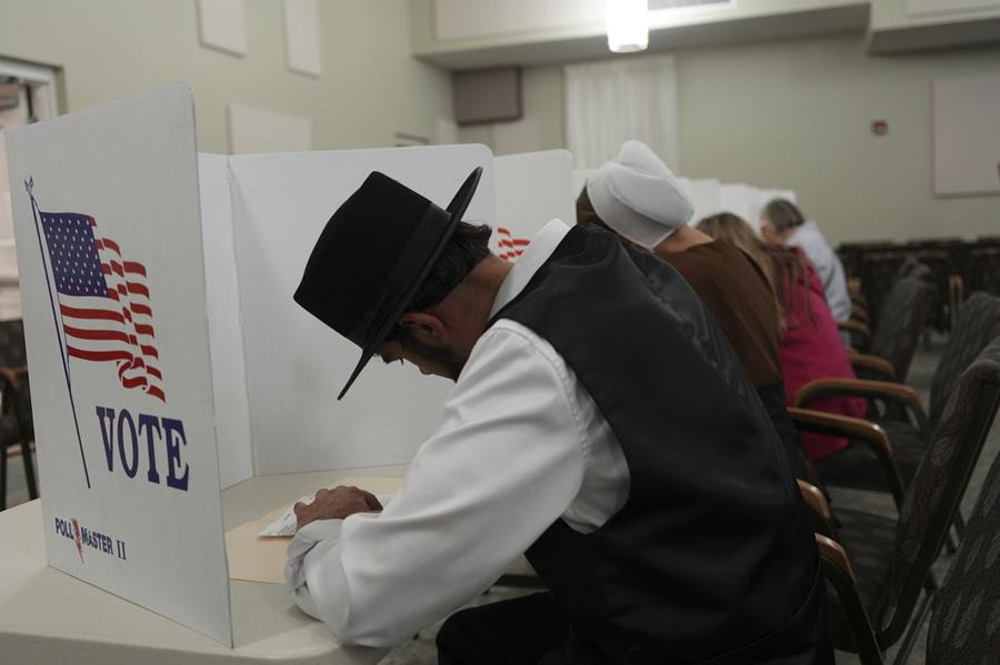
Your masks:
M1000 197L934 198L931 153L931 81L998 72L1000 47L874 58L850 36L677 57L684 175L794 189L833 242L1000 232ZM527 84L536 77L543 93ZM527 70L524 92L551 142L563 133L558 68ZM889 135L870 133L874 119Z

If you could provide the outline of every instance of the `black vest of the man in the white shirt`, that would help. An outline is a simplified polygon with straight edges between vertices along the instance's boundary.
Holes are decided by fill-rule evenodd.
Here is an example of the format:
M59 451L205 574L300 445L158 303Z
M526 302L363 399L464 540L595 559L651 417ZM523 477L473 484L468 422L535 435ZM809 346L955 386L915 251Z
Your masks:
M528 551L569 621L566 653L543 662L768 663L812 648L812 528L766 410L683 278L577 226L498 319L562 355L631 478L602 527L559 520Z

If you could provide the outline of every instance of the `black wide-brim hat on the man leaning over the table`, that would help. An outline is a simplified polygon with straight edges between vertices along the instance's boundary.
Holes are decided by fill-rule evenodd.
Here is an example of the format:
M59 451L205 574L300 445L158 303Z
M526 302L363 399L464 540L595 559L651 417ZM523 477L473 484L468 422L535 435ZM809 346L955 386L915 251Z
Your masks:
M482 175L477 167L448 208L372 171L327 222L296 302L361 347L338 400L386 341L461 221Z

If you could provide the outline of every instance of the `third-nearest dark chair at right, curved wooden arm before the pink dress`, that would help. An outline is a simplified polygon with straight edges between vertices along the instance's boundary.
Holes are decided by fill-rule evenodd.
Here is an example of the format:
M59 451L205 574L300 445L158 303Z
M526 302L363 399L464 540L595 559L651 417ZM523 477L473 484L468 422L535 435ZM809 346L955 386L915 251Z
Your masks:
M954 392L962 372L998 335L1000 298L988 293L972 294L959 312L959 319L934 370L930 409L927 412L913 389L884 381L822 379L802 386L794 403L808 409L814 400L830 395L869 400L868 420L879 424L888 435L892 457L906 486L917 471L931 433L940 422L944 405ZM899 417L900 414L902 417ZM839 454L817 461L814 466L829 484L862 490L890 490L894 493L891 478L886 477L884 460L880 455L878 450L866 451L851 446ZM879 464L874 464L876 461Z

